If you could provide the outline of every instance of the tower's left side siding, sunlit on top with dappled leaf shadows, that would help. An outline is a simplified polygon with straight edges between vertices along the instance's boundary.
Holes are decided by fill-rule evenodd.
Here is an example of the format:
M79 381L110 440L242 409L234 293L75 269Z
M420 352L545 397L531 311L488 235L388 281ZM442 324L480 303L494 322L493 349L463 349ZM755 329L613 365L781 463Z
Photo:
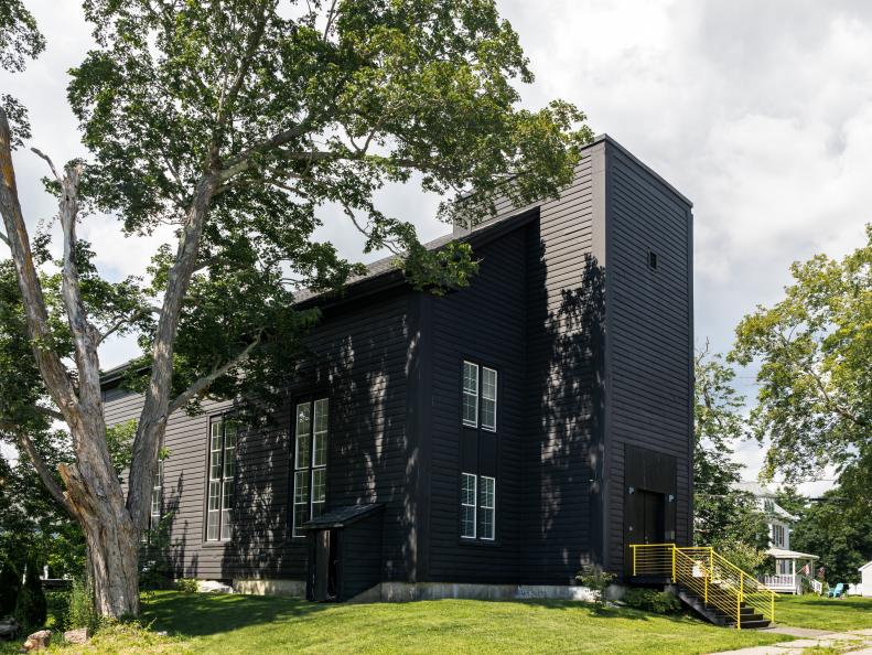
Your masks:
M520 581L572 581L591 559L591 447L602 323L594 144L527 244L527 434Z

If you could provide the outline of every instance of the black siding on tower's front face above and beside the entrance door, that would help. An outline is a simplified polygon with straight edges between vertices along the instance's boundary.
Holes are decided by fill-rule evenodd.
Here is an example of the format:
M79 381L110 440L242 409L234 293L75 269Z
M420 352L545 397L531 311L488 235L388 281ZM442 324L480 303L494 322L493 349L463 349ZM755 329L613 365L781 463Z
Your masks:
M676 458L678 543L690 539L691 208L618 147L607 149L609 563L624 557L626 448ZM648 250L657 268L648 266Z

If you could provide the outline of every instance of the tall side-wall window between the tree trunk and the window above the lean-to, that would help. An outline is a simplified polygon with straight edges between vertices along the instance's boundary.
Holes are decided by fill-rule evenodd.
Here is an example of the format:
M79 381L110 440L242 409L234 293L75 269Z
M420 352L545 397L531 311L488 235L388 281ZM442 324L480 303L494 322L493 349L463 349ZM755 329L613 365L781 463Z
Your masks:
M236 423L217 419L209 427L209 488L206 540L230 538L233 531L234 475L236 473Z

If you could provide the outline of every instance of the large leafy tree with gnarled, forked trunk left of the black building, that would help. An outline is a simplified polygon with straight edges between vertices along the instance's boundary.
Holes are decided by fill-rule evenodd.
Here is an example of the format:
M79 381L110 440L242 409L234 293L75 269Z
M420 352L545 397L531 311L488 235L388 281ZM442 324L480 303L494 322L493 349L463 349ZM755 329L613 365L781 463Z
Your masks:
M424 250L375 193L417 175L426 191L464 193L442 203L443 218L475 219L499 194L518 204L557 195L591 133L569 104L518 107L517 85L532 75L493 0L84 9L97 45L73 69L68 96L88 157L62 170L45 157L63 237L60 293L43 283L47 237L34 250L4 115L0 239L50 401L40 406L72 434L64 500L89 546L97 608L136 614L137 543L169 416L206 393L280 388L317 319L294 311L294 286L338 290L359 270L314 239L321 208L340 206L367 250L397 253L415 286L463 286L475 271L470 249ZM128 233L172 225L177 244L155 254L142 288L110 284L77 237L86 208L117 214ZM147 371L126 496L106 442L98 355L119 331L140 335Z

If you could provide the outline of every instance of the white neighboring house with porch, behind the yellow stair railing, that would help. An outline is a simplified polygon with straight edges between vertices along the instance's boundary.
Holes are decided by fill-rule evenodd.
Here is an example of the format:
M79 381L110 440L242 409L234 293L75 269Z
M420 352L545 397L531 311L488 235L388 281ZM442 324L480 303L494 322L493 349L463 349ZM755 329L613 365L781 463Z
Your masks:
M741 482L736 487L754 495L769 527L769 548L766 552L775 558L775 571L761 576L761 582L773 591L801 593L803 578L806 578L820 593L822 586L815 579L818 556L790 550L790 525L796 516L775 502L775 492L757 482Z

